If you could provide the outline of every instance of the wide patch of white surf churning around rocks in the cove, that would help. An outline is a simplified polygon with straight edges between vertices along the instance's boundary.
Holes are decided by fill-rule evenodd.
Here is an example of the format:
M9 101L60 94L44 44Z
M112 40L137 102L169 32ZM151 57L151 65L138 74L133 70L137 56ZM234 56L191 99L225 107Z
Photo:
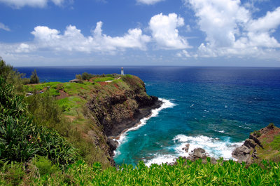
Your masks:
M210 157L214 157L216 159L223 157L225 160L234 159L232 158L232 151L235 150L236 147L239 147L243 144L243 142L230 142L230 138L226 138L225 140L220 140L218 138L209 138L205 135L198 136L187 136L183 134L176 135L173 138L174 146L174 154L154 154L153 159L149 159L144 161L146 166L151 166L151 164L162 164L162 163L172 163L178 157L188 157L189 153L186 153L183 147L186 147L186 144L190 144L190 148L188 152L191 152L195 148L203 148L206 150L207 154Z

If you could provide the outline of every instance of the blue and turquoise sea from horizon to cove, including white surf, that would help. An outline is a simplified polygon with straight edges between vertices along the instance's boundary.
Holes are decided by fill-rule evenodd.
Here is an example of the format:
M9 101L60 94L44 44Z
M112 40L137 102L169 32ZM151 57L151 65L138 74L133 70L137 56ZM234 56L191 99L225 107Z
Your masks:
M69 81L75 74L119 73L120 67L18 67L41 81ZM117 164L147 165L186 156L182 148L202 147L213 157L231 158L248 134L280 126L280 68L125 67L146 83L149 95L164 101L150 118L124 133Z

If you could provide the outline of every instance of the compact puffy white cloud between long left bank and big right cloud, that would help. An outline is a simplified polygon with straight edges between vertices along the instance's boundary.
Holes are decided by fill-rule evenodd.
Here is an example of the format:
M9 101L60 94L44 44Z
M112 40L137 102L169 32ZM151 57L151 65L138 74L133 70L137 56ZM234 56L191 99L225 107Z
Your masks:
M160 13L154 15L149 22L153 39L155 39L160 48L165 49L190 48L188 41L179 36L177 27L182 27L183 25L183 18L176 15L176 13L169 13L169 15Z

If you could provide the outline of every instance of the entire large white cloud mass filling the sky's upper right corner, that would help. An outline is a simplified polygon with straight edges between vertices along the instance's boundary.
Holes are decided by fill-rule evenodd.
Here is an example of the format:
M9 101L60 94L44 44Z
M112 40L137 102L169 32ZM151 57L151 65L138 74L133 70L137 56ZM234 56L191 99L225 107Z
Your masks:
M202 57L260 55L267 48L279 48L272 36L280 25L280 7L254 19L252 10L239 0L185 0L206 33L206 43L198 48Z

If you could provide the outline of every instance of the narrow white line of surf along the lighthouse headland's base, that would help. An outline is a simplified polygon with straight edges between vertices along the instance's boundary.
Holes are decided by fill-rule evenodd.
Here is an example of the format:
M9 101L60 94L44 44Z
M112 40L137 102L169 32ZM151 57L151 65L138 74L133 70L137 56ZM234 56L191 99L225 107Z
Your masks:
M116 140L118 142L118 146L120 146L122 143L126 142L126 139L127 139L126 136L127 136L127 133L129 131L136 131L139 128L141 128L142 126L146 125L147 121L149 119L151 119L152 117L157 117L162 109L172 108L172 107L175 106L175 104L173 102L171 102L170 100L166 100L166 99L163 99L163 98L159 98L159 100L162 101L162 105L158 109L152 109L151 114L148 117L144 117L143 119L140 120L139 124L137 124L136 126L134 126L132 128L127 129L125 132L123 132L120 135L118 140ZM114 152L114 154L115 154L115 157L116 157L117 155L120 154L120 152L118 150L116 150Z

